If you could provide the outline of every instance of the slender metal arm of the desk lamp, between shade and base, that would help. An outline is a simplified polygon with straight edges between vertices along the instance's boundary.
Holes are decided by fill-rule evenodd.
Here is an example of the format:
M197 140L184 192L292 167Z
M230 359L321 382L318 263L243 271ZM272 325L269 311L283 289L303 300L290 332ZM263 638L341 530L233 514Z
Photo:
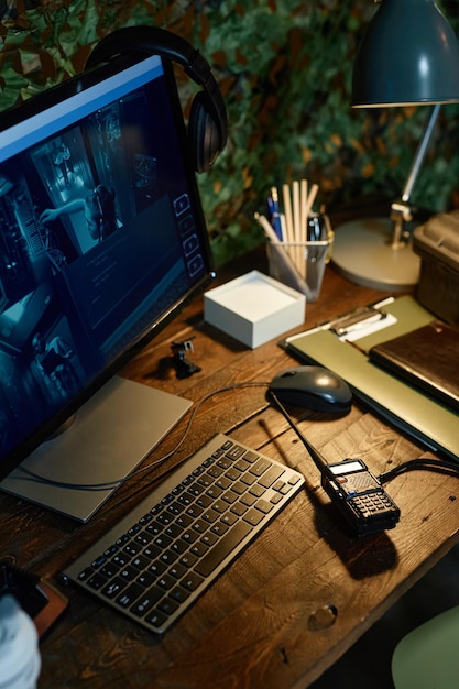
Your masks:
M427 147L430 143L431 134L437 123L439 112L440 103L435 103L425 124L420 143L417 147L416 155L414 157L412 167L405 182L405 186L402 192L402 197L400 200L394 201L391 206L391 220L393 223L391 244L393 249L400 249L404 244L403 226L405 222L409 222L409 220L413 220L413 214L408 201L414 185L416 184L417 177L419 176L420 167L424 163Z

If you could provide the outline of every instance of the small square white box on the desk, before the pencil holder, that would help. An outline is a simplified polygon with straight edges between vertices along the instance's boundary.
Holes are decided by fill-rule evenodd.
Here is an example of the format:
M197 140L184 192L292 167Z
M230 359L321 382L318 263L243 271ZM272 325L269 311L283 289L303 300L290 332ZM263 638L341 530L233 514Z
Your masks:
M304 294L252 271L204 295L204 318L251 349L303 325Z

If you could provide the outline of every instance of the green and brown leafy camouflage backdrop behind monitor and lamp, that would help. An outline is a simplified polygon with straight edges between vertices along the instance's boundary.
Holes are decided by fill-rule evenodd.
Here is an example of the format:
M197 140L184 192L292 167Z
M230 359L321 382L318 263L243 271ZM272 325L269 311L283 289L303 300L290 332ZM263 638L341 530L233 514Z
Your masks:
M92 45L156 24L200 47L228 109L229 139L198 184L217 263L260 242L253 212L272 184L307 177L332 207L400 194L427 111L352 110L352 61L370 0L0 0L0 108L83 69ZM442 6L459 30L457 1ZM193 88L177 74L185 111ZM458 107L441 111L414 200L459 205Z

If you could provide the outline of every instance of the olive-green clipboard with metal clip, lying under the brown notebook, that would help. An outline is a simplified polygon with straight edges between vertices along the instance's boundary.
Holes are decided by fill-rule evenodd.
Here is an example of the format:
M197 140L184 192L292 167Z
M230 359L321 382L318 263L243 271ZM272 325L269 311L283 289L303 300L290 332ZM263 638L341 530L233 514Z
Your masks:
M371 362L367 353L374 344L431 322L433 314L411 296L391 297L372 305L367 319L339 333L336 322L343 322L345 316L292 336L283 347L300 361L335 371L357 400L414 440L459 460L458 414Z

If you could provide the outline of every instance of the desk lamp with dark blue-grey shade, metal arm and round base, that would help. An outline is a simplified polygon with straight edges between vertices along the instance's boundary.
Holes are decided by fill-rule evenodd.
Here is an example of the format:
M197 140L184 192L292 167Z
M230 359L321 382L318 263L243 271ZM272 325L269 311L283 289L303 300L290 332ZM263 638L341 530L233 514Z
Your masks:
M412 250L406 226L413 220L409 198L440 103L458 101L459 44L435 1L380 1L354 62L352 107L433 108L390 218L367 218L337 228L332 260L352 282L393 292L413 289L418 282L419 259Z

